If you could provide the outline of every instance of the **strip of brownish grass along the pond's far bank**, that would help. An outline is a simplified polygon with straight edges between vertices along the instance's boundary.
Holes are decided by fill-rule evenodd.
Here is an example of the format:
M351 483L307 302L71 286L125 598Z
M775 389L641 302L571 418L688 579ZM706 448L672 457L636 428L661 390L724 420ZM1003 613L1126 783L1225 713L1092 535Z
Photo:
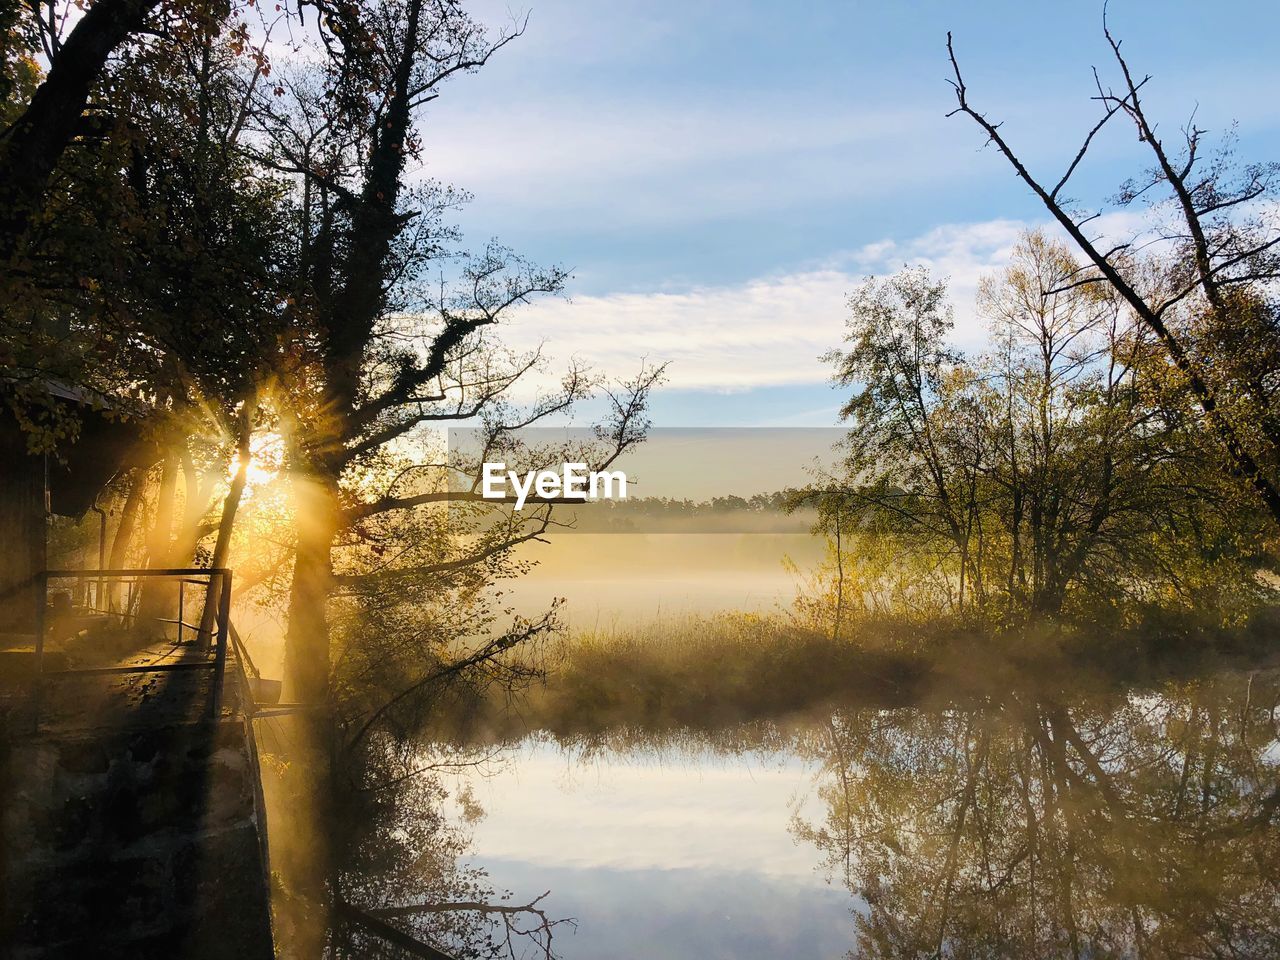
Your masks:
M1257 664L1275 650L1276 617L1242 631L1119 632L1055 623L995 630L957 621L860 622L833 639L782 616L726 613L564 637L547 678L506 704L480 704L490 732L617 727L714 728L831 704L892 708L1102 690L1206 664ZM475 716L472 716L475 719Z

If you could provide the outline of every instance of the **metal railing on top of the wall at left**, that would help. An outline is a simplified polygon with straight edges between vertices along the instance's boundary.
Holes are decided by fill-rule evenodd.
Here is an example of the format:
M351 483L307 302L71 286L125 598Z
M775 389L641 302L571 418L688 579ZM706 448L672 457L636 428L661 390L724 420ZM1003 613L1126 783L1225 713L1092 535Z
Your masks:
M232 571L228 567L174 567L174 568L161 568L161 570L146 570L146 568L120 568L120 570L46 570L37 573L37 589L36 589L36 689L35 689L35 718L36 724L40 723L40 707L44 696L45 680L49 677L67 676L67 675L93 675L93 673L164 673L173 671L186 671L186 669L212 669L214 671L214 689L210 703L210 713L218 717L221 712L221 699L223 699L223 681L227 673L227 648L228 637L230 632L230 609L232 609ZM142 580L170 580L178 582L178 617L177 620L172 617L151 617L159 623L174 623L177 625L178 643L182 641L183 628L193 630L196 634L197 643L204 639L204 649L209 648L209 641L211 637L204 636L205 632L212 632L216 637L214 645L214 658L211 660L192 660L184 663L138 663L138 664L125 664L115 667L78 667L68 669L46 671L45 669L45 634L46 634L46 609L49 607L49 584L52 580L79 580L82 582L96 582L97 590L93 598L95 605L87 608L95 613L102 613L108 616L119 616L124 622L136 622L140 620L140 614L133 612L133 586L141 584ZM106 582L129 582L131 595L125 604L123 612L113 611L110 603L104 604ZM212 596L216 589L216 613L214 621L214 630L205 631L200 625L187 623L184 621L186 616L186 586L188 584L198 584L206 588L206 598ZM206 599L207 603L207 599ZM82 608L84 609L84 608ZM202 621L207 621L207 617L202 617Z

